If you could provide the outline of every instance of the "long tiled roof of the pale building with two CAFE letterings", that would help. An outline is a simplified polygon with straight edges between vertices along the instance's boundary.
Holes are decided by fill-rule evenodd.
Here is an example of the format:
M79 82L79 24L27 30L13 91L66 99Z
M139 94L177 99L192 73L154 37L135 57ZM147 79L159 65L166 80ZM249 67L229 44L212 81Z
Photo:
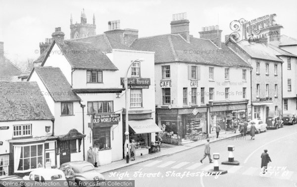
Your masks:
M188 43L177 34L139 38L131 45L131 48L155 52L155 63L194 62L250 67L224 43L222 43L222 49L219 49L210 40L190 37L190 43Z

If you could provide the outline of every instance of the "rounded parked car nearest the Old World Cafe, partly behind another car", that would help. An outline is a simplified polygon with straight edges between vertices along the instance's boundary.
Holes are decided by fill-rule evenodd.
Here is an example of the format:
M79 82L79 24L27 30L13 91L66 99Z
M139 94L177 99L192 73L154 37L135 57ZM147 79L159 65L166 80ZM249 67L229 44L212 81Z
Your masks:
M67 166L72 167L75 173L75 182L79 185L80 182L89 182L89 184L95 183L99 185L100 181L104 181L104 177L98 171L95 170L93 164L87 161L72 161L66 162L60 166L60 170L65 170ZM80 187L84 187L80 185Z

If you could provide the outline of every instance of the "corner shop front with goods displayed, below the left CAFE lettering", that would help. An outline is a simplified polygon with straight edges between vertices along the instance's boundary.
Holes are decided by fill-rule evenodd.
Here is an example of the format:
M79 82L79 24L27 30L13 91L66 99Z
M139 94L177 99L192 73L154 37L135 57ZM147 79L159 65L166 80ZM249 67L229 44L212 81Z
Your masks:
M183 141L198 140L206 133L206 107L157 108L157 123L164 143L181 145ZM201 137L202 136L202 137Z

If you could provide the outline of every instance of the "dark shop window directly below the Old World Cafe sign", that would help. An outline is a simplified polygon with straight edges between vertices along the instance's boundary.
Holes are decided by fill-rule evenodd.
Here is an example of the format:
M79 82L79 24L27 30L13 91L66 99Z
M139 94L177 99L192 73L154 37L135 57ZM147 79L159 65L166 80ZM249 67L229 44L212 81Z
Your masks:
M109 149L110 146L110 127L96 127L93 129L93 143L99 149Z

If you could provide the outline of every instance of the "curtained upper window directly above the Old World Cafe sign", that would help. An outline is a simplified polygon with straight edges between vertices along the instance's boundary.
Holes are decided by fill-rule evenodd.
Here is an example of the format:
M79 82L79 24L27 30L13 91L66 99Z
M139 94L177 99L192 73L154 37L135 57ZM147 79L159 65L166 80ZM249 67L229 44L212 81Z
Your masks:
M88 102L88 114L112 113L113 101L91 101Z

